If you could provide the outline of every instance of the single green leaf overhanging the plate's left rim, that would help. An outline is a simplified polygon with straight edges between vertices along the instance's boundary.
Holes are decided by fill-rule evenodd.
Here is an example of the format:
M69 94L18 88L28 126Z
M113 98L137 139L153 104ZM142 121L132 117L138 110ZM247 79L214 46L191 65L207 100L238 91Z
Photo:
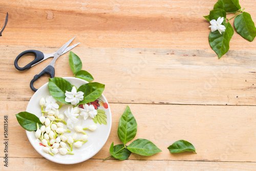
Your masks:
M39 128L42 126L42 123L40 122L39 118L32 113L20 112L15 116L20 126L22 126L25 130L35 131L36 123L38 123Z

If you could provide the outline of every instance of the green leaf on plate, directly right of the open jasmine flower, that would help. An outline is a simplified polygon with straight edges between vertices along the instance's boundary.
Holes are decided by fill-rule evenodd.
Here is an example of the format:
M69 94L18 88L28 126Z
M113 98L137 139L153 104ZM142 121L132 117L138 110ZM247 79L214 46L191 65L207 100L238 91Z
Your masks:
M89 82L80 86L77 92L83 92L83 100L78 104L86 104L96 100L104 91L105 85L98 82Z

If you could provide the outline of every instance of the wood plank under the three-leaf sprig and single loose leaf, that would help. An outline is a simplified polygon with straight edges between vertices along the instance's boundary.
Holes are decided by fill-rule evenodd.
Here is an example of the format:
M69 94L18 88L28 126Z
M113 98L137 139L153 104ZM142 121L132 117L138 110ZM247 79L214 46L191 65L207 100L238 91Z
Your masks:
M25 130L14 114L26 110L27 102L1 101L0 116L9 116L9 157L41 158L31 146ZM109 147L120 144L117 127L127 104L110 104L112 130L103 148L93 159L110 155ZM161 153L145 157L132 154L132 160L239 161L256 162L256 106L129 104L138 123L135 137L154 142ZM0 122L3 126L3 122ZM197 154L170 154L167 147L184 139L193 143ZM129 144L129 143L128 143ZM1 149L4 144L1 143ZM22 153L20 151L22 150ZM0 151L4 156L4 151Z

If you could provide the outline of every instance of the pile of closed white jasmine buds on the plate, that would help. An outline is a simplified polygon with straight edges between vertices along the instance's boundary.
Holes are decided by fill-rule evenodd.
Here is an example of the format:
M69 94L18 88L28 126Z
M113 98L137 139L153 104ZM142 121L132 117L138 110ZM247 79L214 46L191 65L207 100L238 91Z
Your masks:
M41 98L39 101L39 105L41 106L42 116L39 117L42 126L39 129L39 125L37 123L37 130L35 132L35 137L41 140L41 144L44 145L42 148L44 152L54 156L57 153L61 155L74 155L73 145L76 148L82 146L82 144L86 143L88 140L88 135L84 130L95 131L97 126L95 124L89 127L82 127L81 125L77 125L74 127L74 130L78 134L83 134L79 139L77 139L77 133L74 133L72 136L64 135L65 132L70 133L71 131L65 129L65 125L67 124L65 121L65 116L59 113L59 110L62 105L59 106L58 109L50 110L48 112L44 111L44 107L46 104L46 100ZM78 107L73 108L79 112ZM47 116L46 116L47 115Z

